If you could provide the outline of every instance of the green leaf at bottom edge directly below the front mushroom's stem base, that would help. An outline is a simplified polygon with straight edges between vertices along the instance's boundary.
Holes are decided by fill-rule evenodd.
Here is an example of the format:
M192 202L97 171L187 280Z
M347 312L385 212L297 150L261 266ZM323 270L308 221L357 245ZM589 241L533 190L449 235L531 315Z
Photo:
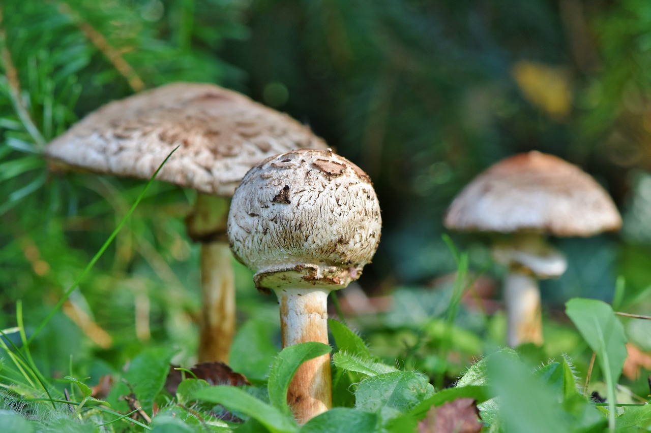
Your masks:
M376 413L352 408L334 408L307 422L301 433L362 433L376 432L380 419Z

